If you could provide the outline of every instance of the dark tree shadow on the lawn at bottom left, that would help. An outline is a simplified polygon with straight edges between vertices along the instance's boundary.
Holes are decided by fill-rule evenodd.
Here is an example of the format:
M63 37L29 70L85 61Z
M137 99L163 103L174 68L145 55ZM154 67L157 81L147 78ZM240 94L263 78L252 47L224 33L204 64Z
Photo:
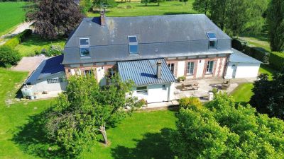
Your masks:
M50 110L35 114L28 118L28 123L18 126L18 133L14 134L12 141L17 143L25 153L40 158L68 158L66 152L48 139L45 127L45 115Z

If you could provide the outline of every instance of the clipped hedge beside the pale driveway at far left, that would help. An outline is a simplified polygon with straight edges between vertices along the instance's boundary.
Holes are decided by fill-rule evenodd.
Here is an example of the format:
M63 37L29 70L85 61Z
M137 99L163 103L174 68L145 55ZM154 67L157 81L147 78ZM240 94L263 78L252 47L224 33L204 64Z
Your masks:
M32 34L31 29L24 30L22 33L8 40L4 45L7 47L15 48L17 45L21 44L21 42L23 42L23 40L25 40L26 37L30 36L31 34Z

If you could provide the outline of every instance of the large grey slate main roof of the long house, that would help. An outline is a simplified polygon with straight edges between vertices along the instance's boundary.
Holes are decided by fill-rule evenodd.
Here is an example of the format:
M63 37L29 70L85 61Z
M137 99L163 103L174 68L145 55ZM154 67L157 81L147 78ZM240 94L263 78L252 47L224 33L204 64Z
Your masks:
M214 32L217 49L208 49L207 32ZM138 52L129 55L128 35L136 35ZM81 58L80 38L89 37L90 58ZM204 14L84 18L65 45L63 64L126 61L200 54L230 54L231 38Z

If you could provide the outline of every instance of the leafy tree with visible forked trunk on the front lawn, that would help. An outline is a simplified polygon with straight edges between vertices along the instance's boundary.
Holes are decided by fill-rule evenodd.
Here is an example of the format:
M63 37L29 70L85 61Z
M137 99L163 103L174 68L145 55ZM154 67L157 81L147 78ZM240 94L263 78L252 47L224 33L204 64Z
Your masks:
M100 87L93 76L70 77L66 92L48 114L48 136L70 155L80 154L94 142L98 133L107 144L107 127L143 104L131 95L132 87L133 82L122 82L118 76L104 87Z

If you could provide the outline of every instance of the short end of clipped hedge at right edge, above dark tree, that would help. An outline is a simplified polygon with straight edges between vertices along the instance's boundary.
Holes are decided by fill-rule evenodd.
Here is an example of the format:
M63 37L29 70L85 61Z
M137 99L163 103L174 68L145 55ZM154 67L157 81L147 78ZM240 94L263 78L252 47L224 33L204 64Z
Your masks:
M269 61L273 69L281 71L284 69L284 53L281 52L271 52Z

